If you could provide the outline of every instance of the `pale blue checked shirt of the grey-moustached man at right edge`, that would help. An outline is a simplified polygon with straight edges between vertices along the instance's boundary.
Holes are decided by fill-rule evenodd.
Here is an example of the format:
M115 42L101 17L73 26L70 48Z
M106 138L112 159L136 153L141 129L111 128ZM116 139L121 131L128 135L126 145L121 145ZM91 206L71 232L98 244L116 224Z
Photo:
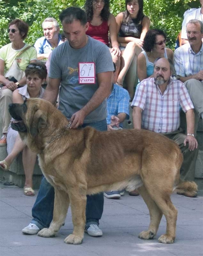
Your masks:
M197 54L190 44L184 44L174 52L175 70L178 76L192 76L203 70L203 44Z

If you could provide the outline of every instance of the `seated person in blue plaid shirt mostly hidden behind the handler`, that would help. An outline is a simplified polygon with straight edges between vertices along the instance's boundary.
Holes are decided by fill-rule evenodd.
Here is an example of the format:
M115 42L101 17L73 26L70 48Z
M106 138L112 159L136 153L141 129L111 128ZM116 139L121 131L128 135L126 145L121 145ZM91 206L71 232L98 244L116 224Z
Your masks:
M114 69L116 69L115 64ZM115 71L114 71L115 72ZM111 81L113 84L114 76L112 75ZM122 129L122 122L129 119L129 101L130 95L127 90L117 84L113 84L110 95L107 97L107 130L113 131ZM124 195L122 191L105 191L104 196L111 199L118 199Z

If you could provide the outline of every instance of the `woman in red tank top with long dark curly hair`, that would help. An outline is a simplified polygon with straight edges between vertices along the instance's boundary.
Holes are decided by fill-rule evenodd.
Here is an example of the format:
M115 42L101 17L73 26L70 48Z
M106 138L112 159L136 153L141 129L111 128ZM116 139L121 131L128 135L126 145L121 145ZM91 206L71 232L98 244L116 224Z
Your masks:
M120 70L120 56L119 43L116 34L116 19L109 11L109 0L86 0L84 4L87 20L90 23L86 34L92 38L101 41L108 47L109 37L111 42L111 56L116 65L115 81L119 75Z

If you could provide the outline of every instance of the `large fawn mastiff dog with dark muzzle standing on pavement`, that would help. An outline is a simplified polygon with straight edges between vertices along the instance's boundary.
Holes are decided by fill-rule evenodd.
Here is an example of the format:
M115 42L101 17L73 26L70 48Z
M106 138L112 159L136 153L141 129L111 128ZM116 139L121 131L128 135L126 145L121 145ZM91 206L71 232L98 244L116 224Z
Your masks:
M61 111L44 99L10 104L9 112L16 120L12 128L38 154L42 172L55 189L53 221L39 236L55 236L71 204L74 230L64 241L81 244L86 195L138 188L151 216L139 238L152 239L165 215L166 233L159 242L174 242L177 209L170 195L177 188L197 189L196 183L180 181L183 156L176 143L145 130L70 129Z

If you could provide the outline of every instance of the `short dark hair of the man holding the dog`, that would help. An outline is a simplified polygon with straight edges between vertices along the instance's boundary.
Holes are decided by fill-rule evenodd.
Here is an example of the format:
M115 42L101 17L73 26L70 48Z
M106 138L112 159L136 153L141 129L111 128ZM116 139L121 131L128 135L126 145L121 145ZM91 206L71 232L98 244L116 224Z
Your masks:
M86 13L81 8L73 6L63 10L59 15L59 19L61 23L64 21L67 24L73 23L74 20L79 20L81 25L87 23Z

